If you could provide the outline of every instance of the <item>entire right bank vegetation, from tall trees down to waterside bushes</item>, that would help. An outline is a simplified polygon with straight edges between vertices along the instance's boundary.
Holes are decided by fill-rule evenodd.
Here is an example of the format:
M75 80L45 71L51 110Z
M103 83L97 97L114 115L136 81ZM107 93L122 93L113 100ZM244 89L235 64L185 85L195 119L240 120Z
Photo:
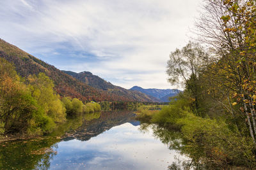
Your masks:
M196 42L170 54L166 73L184 92L147 119L182 134L191 164L256 167L255 20L255 1L206 1Z

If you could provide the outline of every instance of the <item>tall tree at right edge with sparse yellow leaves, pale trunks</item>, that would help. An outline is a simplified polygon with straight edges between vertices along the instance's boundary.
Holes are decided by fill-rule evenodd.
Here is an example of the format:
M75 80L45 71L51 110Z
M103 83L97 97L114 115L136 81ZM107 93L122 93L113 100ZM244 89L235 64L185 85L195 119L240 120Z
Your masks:
M256 2L209 0L204 9L196 24L198 40L210 45L218 59L208 78L220 87L218 93L235 100L232 105L239 106L256 145Z

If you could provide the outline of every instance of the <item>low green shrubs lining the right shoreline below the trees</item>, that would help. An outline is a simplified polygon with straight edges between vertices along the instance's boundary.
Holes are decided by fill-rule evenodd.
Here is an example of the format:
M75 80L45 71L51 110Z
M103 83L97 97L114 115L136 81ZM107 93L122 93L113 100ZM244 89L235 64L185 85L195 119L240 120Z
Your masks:
M161 111L139 110L137 120L180 132L179 150L191 157L193 165L206 169L256 166L253 142L224 118L199 117L186 97L177 97ZM161 135L163 135L161 133ZM163 136L162 136L163 138ZM169 136L166 136L166 139ZM172 140L167 142L169 147Z

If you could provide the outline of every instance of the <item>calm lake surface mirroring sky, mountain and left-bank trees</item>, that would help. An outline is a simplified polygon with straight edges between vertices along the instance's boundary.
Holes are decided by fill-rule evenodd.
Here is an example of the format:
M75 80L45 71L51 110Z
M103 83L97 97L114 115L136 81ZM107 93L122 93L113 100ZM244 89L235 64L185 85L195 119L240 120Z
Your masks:
M0 169L168 169L187 159L133 118L130 111L92 113L44 138L1 143Z

